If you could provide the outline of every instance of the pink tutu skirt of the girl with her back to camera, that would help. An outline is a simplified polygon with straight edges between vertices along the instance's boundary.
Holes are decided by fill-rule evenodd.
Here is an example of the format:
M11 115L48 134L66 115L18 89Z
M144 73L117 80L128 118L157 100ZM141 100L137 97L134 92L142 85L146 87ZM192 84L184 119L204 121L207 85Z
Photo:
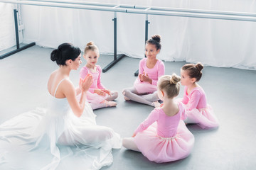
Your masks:
M188 157L195 139L183 120L180 120L174 137L160 137L156 134L156 128L157 124L153 123L134 137L138 149L147 159L162 163Z

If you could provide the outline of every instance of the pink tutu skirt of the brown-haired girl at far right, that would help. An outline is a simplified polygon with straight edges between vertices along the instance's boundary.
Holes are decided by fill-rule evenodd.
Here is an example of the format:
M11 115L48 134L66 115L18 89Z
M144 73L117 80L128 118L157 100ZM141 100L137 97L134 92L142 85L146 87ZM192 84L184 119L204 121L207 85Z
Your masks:
M201 128L216 128L218 127L218 119L216 118L213 108L207 105L207 108L194 108L191 111L186 111L185 123L197 123Z

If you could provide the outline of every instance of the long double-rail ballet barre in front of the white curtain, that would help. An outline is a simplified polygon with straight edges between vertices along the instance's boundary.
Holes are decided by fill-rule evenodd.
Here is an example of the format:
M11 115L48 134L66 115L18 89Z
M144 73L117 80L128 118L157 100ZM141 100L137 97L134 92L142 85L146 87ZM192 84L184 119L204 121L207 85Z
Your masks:
M122 59L125 55L117 57L117 13L137 13L146 15L145 23L145 41L148 39L148 15L159 16L180 16L189 18L210 18L231 21L256 21L256 13L233 12L233 11L210 11L188 8L165 8L155 6L134 6L122 4L107 4L86 1L68 1L68 0L0 0L0 2L10 4L23 4L33 6L50 6L60 8L78 8L94 11L114 12L114 61L107 65L102 72L107 72L114 64ZM137 76L137 72L134 74Z

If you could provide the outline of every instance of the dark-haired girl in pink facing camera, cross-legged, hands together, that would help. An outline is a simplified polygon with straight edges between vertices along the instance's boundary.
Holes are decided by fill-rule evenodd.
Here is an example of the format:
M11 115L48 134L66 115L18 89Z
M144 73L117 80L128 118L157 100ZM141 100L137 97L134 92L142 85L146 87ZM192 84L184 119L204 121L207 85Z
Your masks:
M164 75L164 62L156 59L156 55L161 50L160 40L160 35L153 35L146 41L146 58L139 62L139 77L134 82L134 86L123 90L125 100L159 107L156 84L159 77Z

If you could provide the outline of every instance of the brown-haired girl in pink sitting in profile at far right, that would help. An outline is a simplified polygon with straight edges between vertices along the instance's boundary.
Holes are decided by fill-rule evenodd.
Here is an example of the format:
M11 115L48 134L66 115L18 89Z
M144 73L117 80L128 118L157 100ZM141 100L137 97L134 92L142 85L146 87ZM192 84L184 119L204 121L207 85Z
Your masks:
M218 119L206 102L206 93L198 85L203 64L185 64L181 68L181 84L185 86L182 103L186 105L186 123L198 123L201 128L218 127Z

